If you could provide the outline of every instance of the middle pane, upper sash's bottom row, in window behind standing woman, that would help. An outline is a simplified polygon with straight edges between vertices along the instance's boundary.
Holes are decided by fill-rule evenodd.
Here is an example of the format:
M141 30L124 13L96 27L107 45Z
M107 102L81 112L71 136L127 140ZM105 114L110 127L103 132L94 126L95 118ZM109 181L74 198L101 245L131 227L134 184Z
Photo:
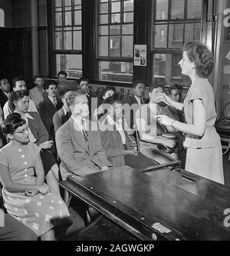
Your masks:
M183 24L169 25L169 48L181 48L183 45Z

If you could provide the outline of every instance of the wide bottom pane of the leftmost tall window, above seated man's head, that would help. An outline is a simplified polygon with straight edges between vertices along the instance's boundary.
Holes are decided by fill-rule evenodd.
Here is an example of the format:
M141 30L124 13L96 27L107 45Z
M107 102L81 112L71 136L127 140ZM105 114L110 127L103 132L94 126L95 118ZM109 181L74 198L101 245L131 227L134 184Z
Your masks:
M56 55L56 71L67 72L68 78L81 78L82 55Z

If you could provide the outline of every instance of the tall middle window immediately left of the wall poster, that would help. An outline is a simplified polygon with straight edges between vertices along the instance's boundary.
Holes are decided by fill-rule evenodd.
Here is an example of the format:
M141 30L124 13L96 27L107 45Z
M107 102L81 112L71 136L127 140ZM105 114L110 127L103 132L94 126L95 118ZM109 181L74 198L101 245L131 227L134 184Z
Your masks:
M97 79L133 81L133 0L97 0Z

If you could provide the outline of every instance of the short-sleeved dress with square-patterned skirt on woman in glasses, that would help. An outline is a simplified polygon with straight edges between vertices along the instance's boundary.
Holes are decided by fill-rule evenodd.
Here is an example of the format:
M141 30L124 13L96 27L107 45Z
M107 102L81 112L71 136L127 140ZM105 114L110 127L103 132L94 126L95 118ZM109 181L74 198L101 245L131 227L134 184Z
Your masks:
M0 150L0 165L8 167L15 183L35 184L38 155L40 148L34 143L20 147L8 144ZM8 214L31 228L38 236L70 216L66 204L55 192L28 197L24 192L9 192L3 188L2 195Z

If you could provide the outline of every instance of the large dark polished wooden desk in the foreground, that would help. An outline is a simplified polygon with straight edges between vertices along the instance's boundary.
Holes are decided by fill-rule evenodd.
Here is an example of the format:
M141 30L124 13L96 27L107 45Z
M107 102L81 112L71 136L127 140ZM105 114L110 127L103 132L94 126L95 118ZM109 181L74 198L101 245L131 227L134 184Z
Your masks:
M140 240L230 240L224 211L230 188L180 168L129 167L84 177L61 186Z

